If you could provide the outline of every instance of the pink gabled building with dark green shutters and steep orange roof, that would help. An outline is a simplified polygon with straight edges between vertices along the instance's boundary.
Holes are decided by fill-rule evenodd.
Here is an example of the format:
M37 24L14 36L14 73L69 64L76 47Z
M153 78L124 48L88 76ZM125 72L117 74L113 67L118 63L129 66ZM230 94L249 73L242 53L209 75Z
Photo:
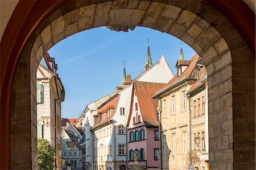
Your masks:
M158 100L155 92L165 84L135 81L127 123L127 166L135 166L135 160L143 169L158 169L159 122Z

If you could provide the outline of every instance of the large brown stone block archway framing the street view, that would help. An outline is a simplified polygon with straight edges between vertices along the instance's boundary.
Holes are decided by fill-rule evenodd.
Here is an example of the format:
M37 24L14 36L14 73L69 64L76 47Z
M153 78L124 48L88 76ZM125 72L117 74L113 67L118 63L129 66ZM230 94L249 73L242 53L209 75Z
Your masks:
M43 54L70 35L100 26L149 27L195 49L208 72L210 168L255 165L255 58L219 11L207 1L72 0L40 24L18 60L11 96L12 169L36 169L35 84Z

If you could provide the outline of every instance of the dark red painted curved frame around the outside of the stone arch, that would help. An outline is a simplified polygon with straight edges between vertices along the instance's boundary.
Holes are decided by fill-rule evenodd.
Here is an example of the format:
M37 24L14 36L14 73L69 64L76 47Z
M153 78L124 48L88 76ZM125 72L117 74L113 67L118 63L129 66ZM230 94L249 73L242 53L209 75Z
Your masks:
M20 0L0 43L1 95L1 165L10 169L11 90L19 57L30 36L48 16L71 0ZM218 9L241 34L255 57L255 14L243 1L207 0Z

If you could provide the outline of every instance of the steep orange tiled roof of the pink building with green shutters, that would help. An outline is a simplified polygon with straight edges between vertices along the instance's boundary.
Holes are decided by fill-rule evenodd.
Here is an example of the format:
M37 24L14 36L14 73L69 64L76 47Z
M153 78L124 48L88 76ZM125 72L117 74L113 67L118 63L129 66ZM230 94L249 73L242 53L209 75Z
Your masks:
M145 125L158 126L156 113L158 107L158 99L151 98L155 92L158 92L166 84L135 81L134 89L138 98L138 105Z

